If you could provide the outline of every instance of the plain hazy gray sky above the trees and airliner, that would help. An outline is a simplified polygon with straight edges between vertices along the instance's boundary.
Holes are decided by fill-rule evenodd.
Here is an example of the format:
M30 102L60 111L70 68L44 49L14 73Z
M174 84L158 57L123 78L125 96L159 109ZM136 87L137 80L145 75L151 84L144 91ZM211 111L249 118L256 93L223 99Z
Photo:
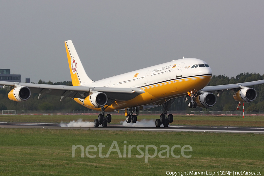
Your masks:
M184 57L263 74L264 1L1 1L0 68L69 81L72 40L93 80Z

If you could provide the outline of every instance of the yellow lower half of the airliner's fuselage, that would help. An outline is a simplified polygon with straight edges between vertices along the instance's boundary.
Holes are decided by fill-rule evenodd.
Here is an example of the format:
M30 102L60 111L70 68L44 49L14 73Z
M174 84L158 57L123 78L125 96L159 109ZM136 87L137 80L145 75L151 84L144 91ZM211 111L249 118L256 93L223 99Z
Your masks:
M188 91L197 92L201 90L210 82L211 78L211 75L189 77L142 87L141 89L143 89L145 93L140 94L134 99L128 101L114 101L114 103L108 107L106 107L107 105L105 105L105 111L111 112L128 107L163 104L169 99L187 95ZM79 99L75 98L74 100L82 105L82 101L80 101ZM88 106L85 107L101 111L101 108Z

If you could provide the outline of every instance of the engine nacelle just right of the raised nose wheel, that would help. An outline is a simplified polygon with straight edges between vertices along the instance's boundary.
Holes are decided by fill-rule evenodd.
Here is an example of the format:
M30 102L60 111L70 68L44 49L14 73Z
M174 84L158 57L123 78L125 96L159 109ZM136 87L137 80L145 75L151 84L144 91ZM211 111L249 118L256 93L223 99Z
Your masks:
M213 93L204 93L196 97L197 107L210 108L216 103L216 96Z

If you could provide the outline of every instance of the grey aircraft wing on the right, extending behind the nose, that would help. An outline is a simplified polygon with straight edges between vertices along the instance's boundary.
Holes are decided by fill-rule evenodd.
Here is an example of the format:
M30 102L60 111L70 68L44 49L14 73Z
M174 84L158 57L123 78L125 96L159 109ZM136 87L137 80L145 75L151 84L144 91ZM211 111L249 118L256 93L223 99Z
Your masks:
M258 84L264 84L264 79L263 80L258 80L258 81L251 81L251 82L243 82L243 83L237 83L237 84L226 84L226 85L219 85L219 86L207 86L204 87L201 91L204 92L217 92L220 90L228 90L228 89L236 89L236 88L241 88L241 86L254 86Z

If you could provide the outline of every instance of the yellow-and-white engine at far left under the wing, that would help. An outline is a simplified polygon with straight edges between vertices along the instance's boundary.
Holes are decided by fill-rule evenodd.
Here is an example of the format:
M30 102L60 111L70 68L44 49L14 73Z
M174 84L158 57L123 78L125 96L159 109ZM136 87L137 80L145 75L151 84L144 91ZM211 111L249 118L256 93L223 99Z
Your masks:
M13 101L23 102L29 99L31 91L28 87L20 86L12 89L8 93L8 98Z

